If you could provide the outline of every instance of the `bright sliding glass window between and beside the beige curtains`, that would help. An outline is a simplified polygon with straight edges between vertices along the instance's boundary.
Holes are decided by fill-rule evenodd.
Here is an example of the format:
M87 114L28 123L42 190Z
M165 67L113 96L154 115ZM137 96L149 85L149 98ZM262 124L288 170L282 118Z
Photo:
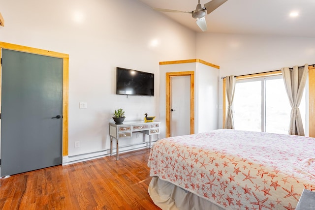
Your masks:
M305 129L305 91L299 106ZM236 81L233 117L235 129L288 133L291 106L282 75Z

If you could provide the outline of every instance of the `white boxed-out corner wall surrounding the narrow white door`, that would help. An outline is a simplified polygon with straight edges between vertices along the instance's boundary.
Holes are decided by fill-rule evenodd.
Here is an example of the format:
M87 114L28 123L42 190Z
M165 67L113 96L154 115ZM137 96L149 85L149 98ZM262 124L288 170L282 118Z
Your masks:
M219 69L199 62L160 65L159 116L162 121L161 138L165 137L166 73L194 71L194 131L195 133L218 129L218 79Z

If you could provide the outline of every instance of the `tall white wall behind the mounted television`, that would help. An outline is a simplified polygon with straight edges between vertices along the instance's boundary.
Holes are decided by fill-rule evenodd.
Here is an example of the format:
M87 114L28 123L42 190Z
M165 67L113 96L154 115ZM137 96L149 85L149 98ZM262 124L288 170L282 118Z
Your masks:
M142 120L146 112L158 116L158 62L195 58L195 33L137 0L0 5L1 42L69 54L69 156L109 149L115 109L126 111L126 121ZM116 95L116 66L155 73L155 97ZM87 102L87 109L79 109L79 102Z

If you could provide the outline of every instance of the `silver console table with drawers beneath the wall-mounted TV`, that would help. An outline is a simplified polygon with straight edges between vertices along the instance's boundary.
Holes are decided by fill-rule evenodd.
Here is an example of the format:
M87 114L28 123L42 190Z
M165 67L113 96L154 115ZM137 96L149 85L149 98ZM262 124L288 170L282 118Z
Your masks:
M149 148L151 148L151 136L157 135L159 139L160 121L144 122L142 121L126 121L123 124L109 123L110 135L110 156L113 155L113 138L116 139L116 160L119 159L119 139L131 138L133 132L141 132L149 135ZM131 146L131 145L130 145Z

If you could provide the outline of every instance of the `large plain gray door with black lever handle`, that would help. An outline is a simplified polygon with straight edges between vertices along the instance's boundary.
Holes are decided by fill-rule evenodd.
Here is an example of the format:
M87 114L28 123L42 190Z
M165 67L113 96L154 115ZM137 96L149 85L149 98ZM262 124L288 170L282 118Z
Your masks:
M0 176L60 165L63 59L2 49L1 86Z

